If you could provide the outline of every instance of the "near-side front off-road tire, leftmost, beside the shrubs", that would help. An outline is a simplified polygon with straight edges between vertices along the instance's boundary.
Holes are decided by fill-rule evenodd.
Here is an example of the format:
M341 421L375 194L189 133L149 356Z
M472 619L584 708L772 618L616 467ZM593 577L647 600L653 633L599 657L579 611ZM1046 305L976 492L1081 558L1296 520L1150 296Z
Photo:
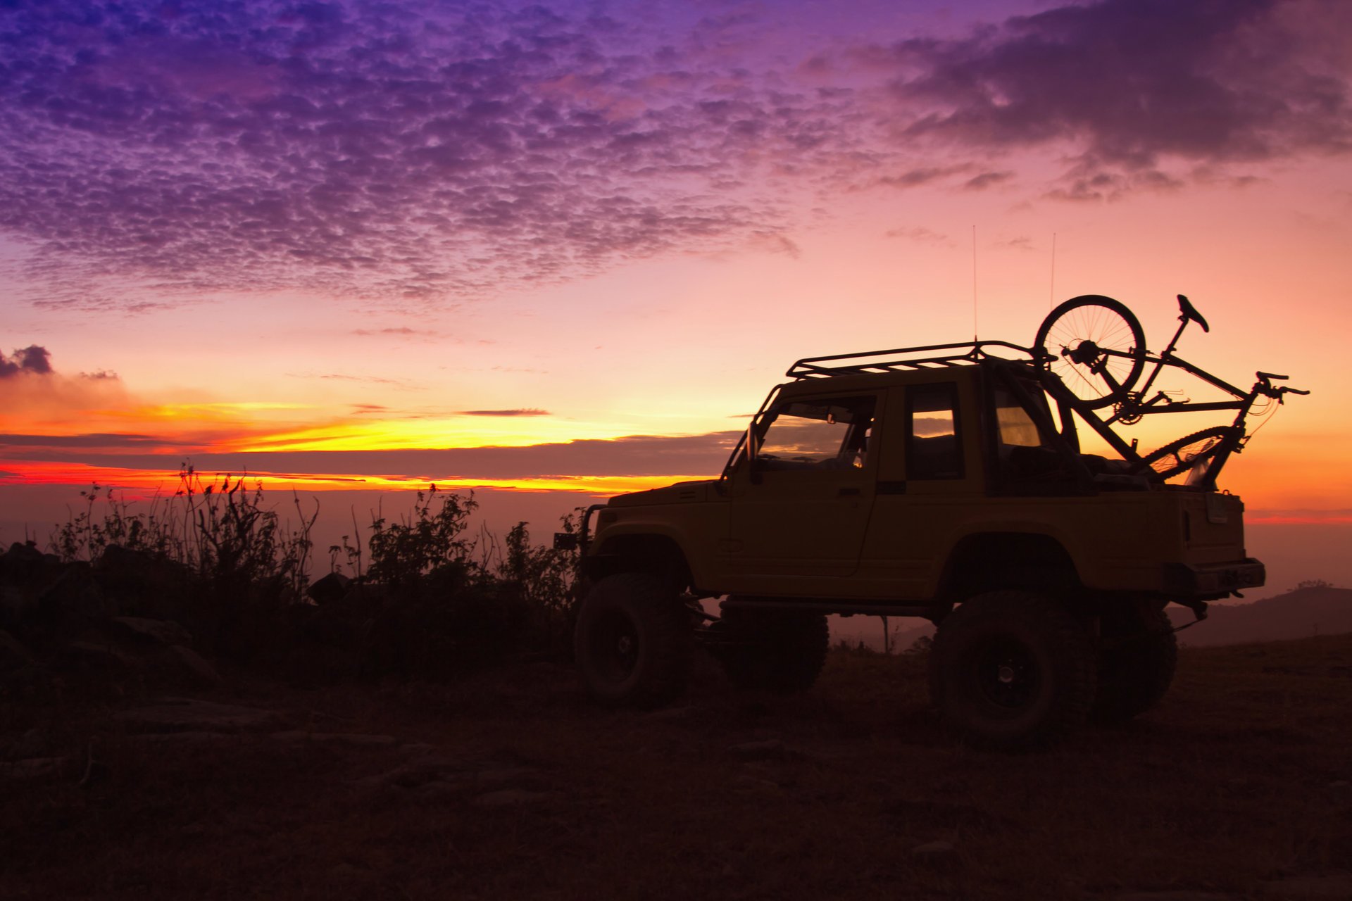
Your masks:
M583 685L615 706L658 706L685 689L694 628L690 609L648 573L596 582L573 629Z

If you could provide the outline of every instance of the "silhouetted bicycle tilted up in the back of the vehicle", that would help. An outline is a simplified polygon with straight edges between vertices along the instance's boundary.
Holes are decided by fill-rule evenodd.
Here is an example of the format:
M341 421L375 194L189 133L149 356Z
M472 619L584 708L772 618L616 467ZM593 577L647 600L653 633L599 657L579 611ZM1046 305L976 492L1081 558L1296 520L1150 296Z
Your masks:
M1242 390L1176 355L1174 349L1188 323L1195 321L1203 332L1211 331L1206 319L1187 297L1179 294L1178 300L1179 327L1168 347L1159 355L1151 355L1145 349L1145 332L1136 315L1122 303L1102 294L1072 297L1053 309L1037 331L1034 353L1045 370L1055 374L1059 385L1064 386L1069 405L1122 453L1132 463L1133 473L1144 474L1149 469L1163 481L1191 470L1188 485L1211 489L1230 454L1238 453L1248 440L1245 420L1260 397L1282 404L1288 393L1310 392L1272 385L1272 381L1287 377L1263 371L1256 373L1256 381L1249 390ZM1146 363L1153 363L1153 369L1144 385L1133 390ZM1165 366L1182 369L1229 393L1234 400L1179 401L1163 390L1149 396L1151 388ZM1101 419L1096 411L1107 405L1113 405L1113 415ZM1230 426L1203 428L1145 455L1136 453L1134 442L1128 446L1111 430L1114 424L1130 426L1152 413L1229 409L1236 411Z

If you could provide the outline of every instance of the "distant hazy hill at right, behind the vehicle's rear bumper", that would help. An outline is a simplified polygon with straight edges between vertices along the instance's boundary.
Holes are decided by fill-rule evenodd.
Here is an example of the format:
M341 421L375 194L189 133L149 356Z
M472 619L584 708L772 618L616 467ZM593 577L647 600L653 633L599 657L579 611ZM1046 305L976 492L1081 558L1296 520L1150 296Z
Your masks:
M1169 617L1183 625L1192 611L1171 605ZM1213 604L1205 621L1179 632L1179 643L1210 647L1343 632L1352 632L1352 589L1301 588L1252 604Z

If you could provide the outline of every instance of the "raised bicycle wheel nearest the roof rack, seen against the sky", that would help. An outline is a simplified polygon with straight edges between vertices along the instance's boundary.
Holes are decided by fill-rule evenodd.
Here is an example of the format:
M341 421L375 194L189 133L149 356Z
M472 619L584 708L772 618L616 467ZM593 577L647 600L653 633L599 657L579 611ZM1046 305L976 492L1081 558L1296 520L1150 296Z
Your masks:
M1126 397L1145 366L1145 332L1121 301L1080 294L1048 313L1034 347L1048 369L1090 409Z

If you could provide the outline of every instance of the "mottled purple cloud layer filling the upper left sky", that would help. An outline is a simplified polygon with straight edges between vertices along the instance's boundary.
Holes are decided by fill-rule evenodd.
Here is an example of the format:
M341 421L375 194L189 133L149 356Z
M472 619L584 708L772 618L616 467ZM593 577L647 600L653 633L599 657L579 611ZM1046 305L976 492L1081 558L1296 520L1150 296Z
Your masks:
M20 3L0 228L53 288L415 300L773 231L746 180L831 143L822 101L635 41L544 5Z

